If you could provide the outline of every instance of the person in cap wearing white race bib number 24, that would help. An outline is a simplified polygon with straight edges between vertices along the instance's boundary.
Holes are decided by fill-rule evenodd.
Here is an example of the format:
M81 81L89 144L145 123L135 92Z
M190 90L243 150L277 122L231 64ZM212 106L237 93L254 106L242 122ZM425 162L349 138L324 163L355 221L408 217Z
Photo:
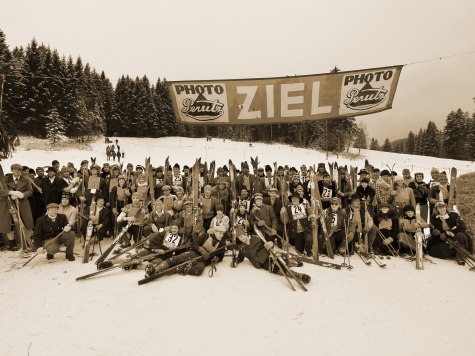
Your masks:
M310 204L296 191L290 196L290 204L283 207L280 218L288 224L288 234L291 244L300 253L307 253L312 257L312 229L316 226L316 216Z

